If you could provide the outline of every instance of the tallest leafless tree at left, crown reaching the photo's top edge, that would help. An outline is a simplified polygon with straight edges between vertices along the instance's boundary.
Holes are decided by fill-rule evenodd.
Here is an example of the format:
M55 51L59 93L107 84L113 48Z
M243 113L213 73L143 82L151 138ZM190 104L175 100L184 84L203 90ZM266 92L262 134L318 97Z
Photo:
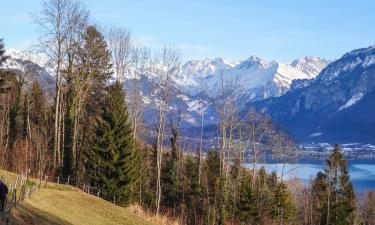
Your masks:
M54 69L55 82L55 125L53 165L61 165L62 137L62 97L63 71L72 38L81 32L82 24L88 19L88 12L81 4L72 0L45 0L42 10L34 16L35 23L41 30L40 50L49 58L49 65Z

